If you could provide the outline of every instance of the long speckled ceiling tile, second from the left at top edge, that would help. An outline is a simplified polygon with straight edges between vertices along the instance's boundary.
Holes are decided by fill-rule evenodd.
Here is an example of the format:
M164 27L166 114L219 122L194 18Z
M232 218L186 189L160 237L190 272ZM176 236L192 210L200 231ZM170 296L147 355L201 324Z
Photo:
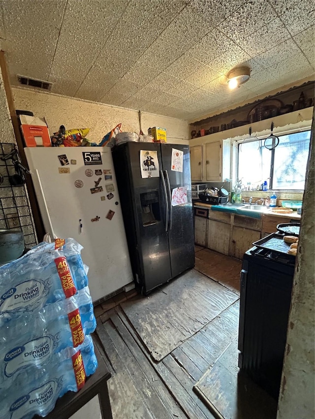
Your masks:
M74 84L72 91L68 88L66 93L74 95L127 4L127 1L70 0L65 9L49 81L64 83L69 79L76 80L79 84ZM86 30L78 30L74 24L84 16L89 19L89 36Z

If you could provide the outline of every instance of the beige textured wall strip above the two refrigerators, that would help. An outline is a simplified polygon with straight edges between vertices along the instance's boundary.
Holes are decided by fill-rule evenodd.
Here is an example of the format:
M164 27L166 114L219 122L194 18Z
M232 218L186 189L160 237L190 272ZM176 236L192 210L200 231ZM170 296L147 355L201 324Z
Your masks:
M88 139L99 142L119 122L122 123L122 131L139 133L140 130L138 111L35 90L13 88L12 91L15 108L32 111L39 117L44 116L50 135L58 131L60 125L64 125L66 129L90 128ZM168 142L188 143L187 121L147 112L142 113L142 131L147 134L150 126L166 128Z

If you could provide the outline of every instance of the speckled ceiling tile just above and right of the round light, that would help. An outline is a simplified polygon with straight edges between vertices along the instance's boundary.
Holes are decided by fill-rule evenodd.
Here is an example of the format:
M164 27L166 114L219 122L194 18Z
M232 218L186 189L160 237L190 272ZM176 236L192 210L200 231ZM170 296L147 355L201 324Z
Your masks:
M290 34L279 18L268 25L255 30L242 41L243 49L252 57L270 50L290 38Z

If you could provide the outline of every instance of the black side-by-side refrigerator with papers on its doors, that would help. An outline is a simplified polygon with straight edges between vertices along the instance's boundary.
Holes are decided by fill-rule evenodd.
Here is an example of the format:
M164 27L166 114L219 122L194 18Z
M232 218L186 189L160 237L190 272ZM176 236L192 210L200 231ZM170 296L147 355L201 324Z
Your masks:
M189 146L127 142L112 155L134 279L147 294L194 267Z

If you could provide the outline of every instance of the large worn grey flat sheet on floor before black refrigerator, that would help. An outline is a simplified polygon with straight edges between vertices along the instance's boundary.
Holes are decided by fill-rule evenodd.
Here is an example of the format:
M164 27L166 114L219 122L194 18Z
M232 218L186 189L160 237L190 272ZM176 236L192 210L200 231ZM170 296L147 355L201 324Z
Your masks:
M235 293L194 269L160 290L121 304L157 361L238 300Z

